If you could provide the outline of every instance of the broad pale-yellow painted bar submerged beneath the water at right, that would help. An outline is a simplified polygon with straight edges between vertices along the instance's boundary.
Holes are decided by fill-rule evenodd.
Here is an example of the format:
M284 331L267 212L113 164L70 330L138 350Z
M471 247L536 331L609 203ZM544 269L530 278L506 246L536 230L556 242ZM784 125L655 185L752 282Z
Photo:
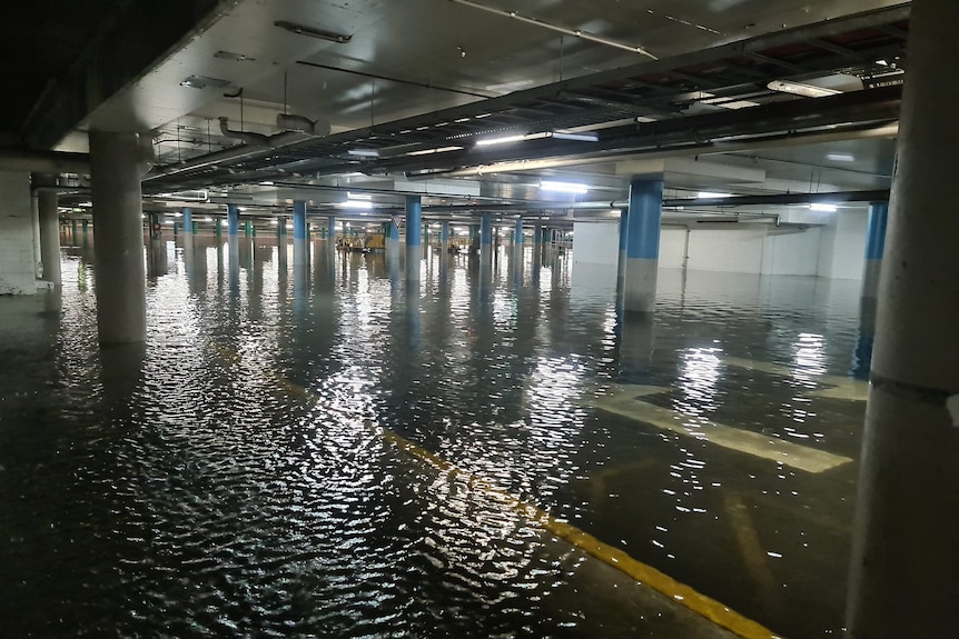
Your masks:
M723 448L779 461L808 472L822 472L852 461L851 458L841 455L783 441L751 430L685 416L675 410L639 401L625 392L595 400L593 406L662 430L695 437Z

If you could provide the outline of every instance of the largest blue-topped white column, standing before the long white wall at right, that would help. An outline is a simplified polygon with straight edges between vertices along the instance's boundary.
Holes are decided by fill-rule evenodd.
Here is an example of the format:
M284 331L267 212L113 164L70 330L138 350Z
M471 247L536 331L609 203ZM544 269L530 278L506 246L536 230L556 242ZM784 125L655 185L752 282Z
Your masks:
M623 282L623 308L626 311L653 312L656 306L662 210L662 180L634 179L630 182L626 277Z

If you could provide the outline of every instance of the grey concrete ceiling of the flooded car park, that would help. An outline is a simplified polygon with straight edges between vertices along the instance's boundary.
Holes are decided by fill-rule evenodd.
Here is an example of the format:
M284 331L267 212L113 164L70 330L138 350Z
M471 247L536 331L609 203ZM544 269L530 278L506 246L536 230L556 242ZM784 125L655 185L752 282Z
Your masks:
M530 0L522 6L505 0L36 2L18 7L12 19L0 26L0 47L7 53L0 63L17 87L16 96L3 103L0 143L82 152L89 128L136 130L155 137L160 164L176 164L238 143L219 133L217 118L223 116L233 129L275 134L277 113L289 112L324 120L336 134L894 4L880 0ZM507 13L514 10L517 17ZM291 32L277 22L347 41ZM129 54L118 56L118 51ZM804 80L828 86L836 78ZM90 86L97 90L90 91ZM689 104L684 108L684 114L690 114ZM722 111L701 100L693 104L692 114L696 109ZM793 141L782 147L740 144L728 152L685 153L683 159L665 161L660 170L675 192L882 189L889 187L893 153L894 141L888 137L814 144ZM421 186L407 179L405 166L399 174L324 174L310 186L419 189L464 202L481 194L490 200L542 201L536 187L540 179L550 177L589 181L595 187L590 198L624 197L633 167L629 157L583 164L573 163L575 153L569 159L535 170L463 174L458 180L449 176ZM320 203L345 197L328 189L230 187L229 192L265 204L283 204L305 192Z

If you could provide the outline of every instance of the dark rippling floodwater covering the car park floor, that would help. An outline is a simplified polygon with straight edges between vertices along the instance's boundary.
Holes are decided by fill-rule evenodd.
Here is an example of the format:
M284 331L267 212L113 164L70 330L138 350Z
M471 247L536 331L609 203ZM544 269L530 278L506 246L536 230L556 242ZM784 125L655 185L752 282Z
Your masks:
M92 237L62 306L0 299L4 633L596 636L622 611L508 492L840 635L858 282L662 271L650 323L530 247L432 252L411 294L399 256L181 242L148 251L146 346L97 347Z

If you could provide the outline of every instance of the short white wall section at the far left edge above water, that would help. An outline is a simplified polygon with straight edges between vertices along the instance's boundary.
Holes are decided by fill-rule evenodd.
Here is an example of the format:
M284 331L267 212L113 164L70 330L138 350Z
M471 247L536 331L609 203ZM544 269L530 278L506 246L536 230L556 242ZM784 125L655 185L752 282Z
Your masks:
M37 292L30 173L0 171L0 294Z

